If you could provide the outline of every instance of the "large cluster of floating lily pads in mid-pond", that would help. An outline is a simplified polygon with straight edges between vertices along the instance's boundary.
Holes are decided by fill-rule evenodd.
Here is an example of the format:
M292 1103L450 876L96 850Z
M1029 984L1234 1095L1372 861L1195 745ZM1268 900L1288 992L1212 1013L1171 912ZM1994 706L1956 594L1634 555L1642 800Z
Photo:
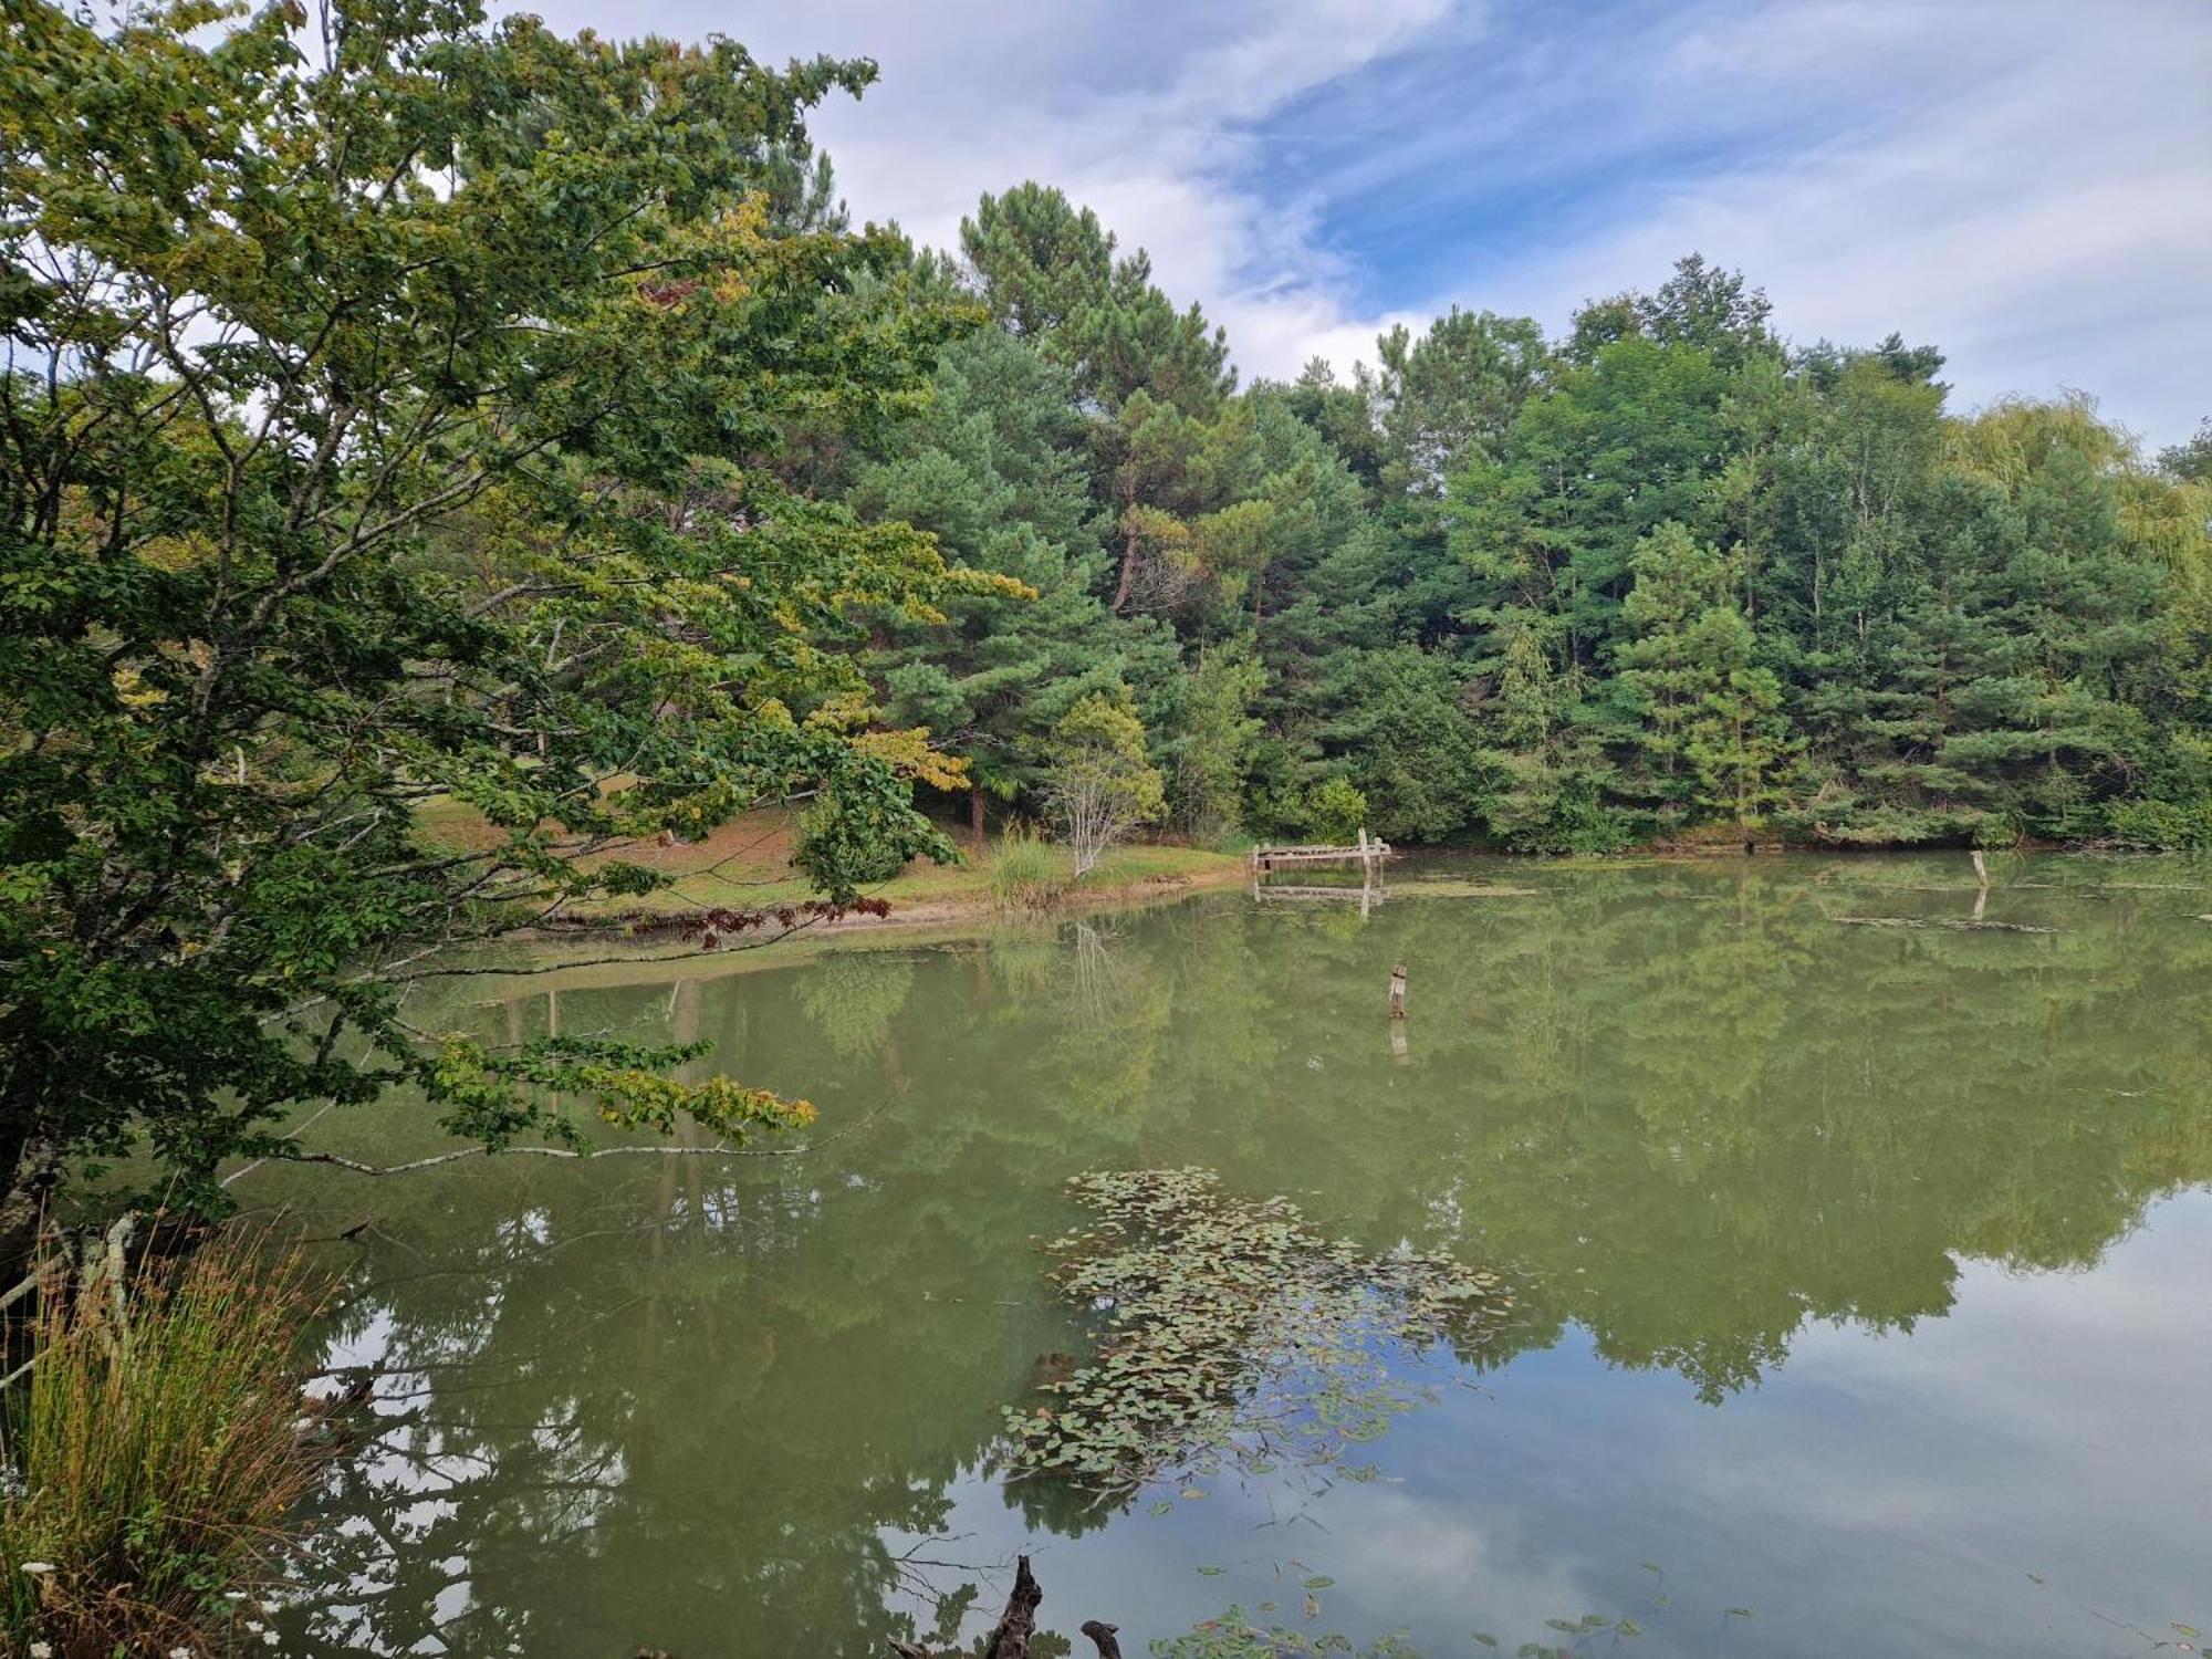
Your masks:
M1048 1245L1053 1281L1097 1312L1097 1358L1006 1409L1022 1473L1104 1491L1225 1462L1371 1475L1343 1455L1429 1396L1407 1360L1464 1354L1511 1310L1493 1272L1323 1239L1287 1199L1230 1197L1210 1170L1091 1172L1068 1190L1095 1221Z

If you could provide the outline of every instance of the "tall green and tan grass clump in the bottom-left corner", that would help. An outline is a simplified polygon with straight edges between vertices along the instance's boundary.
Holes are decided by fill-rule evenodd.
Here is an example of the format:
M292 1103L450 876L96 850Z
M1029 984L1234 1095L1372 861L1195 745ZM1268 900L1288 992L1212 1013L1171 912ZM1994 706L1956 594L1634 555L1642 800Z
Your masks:
M296 1256L217 1239L184 1263L31 1321L4 1400L0 1648L80 1659L208 1652L274 1568L327 1455L294 1363L312 1312Z

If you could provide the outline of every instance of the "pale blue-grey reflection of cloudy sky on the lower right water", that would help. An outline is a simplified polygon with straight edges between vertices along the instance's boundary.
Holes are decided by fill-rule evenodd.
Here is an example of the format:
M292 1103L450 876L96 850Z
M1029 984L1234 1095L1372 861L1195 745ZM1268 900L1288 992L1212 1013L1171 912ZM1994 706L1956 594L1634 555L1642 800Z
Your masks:
M2212 1628L2208 1254L2199 1192L2093 1274L1969 1261L1947 1318L1809 1325L1721 1407L1571 1329L1356 1451L1383 1480L1201 1482L1172 1515L1139 1504L1071 1542L1026 1537L1000 1484L967 1475L940 1553L1033 1551L1044 1624L1104 1617L1130 1652L1237 1601L1363 1641L1411 1626L1429 1652L1475 1650L1475 1630L1511 1652L1601 1613L1650 1655L2121 1655L2143 1639L2119 1626ZM1336 1579L1318 1621L1307 1575Z

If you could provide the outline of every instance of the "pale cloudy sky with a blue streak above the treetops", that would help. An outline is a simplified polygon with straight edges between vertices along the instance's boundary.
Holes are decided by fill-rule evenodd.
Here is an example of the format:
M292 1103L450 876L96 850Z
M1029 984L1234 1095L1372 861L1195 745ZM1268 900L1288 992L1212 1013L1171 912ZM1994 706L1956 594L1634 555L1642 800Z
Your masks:
M533 0L883 80L814 131L951 246L1057 184L1245 378L1458 303L1559 330L1677 254L1796 341L1940 345L1955 407L2212 414L2212 0Z

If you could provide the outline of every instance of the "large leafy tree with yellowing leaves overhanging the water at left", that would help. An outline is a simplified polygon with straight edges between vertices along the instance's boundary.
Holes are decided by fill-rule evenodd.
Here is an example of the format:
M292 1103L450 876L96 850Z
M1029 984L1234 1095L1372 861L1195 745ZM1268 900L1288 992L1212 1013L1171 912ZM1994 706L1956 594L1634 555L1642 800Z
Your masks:
M807 228L867 64L564 40L471 0L0 42L0 1254L82 1155L173 1201L307 1099L409 1082L484 1146L807 1115L681 1051L405 1020L434 951L812 790L825 905L940 849L818 650L933 544L779 489L779 431L920 385L885 232ZM438 812L425 812L436 805ZM438 818L478 823L462 843Z

